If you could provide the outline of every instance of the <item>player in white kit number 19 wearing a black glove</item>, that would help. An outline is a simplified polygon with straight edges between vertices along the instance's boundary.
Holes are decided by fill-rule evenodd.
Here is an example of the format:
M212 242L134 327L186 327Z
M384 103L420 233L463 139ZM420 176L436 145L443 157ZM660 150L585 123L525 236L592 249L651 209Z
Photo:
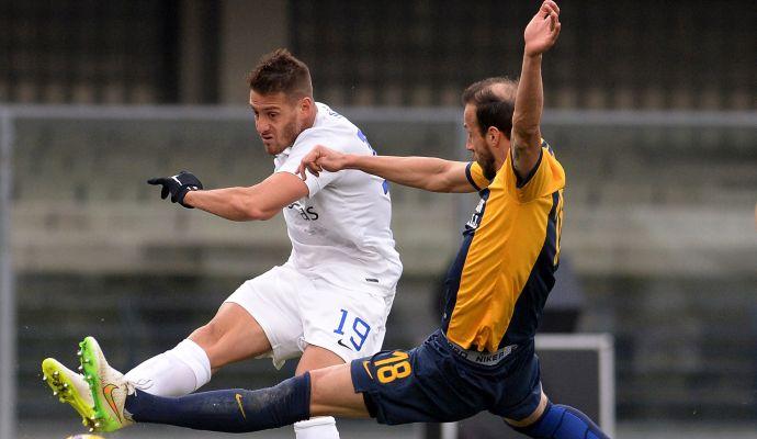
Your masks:
M189 394L207 383L212 371L253 357L270 356L278 367L302 357L296 369L302 374L377 352L384 339L402 273L386 181L357 170L305 181L296 173L318 144L358 155L373 149L355 125L314 101L307 66L287 50L264 56L248 83L256 130L275 157L273 175L248 188L203 190L185 171L149 183L162 187L163 199L170 194L184 207L231 221L264 221L283 211L292 254L284 264L239 286L208 324L177 347L125 374L147 393ZM55 360L45 360L43 372L86 387L80 375ZM65 395L56 380L47 381ZM67 402L86 424L92 417L92 401ZM297 439L339 437L332 417L294 428Z

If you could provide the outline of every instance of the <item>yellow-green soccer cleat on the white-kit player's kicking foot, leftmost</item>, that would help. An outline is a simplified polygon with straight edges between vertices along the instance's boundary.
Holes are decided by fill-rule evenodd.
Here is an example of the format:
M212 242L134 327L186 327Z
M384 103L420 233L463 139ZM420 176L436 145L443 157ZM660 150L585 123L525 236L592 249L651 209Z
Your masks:
M92 393L84 378L60 364L54 358L46 358L42 362L42 380L53 390L61 403L68 403L81 415L84 427L94 425L94 403Z

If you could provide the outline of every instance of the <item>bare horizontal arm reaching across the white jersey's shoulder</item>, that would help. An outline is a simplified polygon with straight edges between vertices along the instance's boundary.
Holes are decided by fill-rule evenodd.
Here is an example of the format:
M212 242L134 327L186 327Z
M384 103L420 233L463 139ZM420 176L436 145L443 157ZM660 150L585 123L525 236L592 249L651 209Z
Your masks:
M319 145L303 158L297 172L305 179L305 169L315 176L321 171L358 169L393 183L431 192L475 192L465 177L466 165L436 157L358 156Z

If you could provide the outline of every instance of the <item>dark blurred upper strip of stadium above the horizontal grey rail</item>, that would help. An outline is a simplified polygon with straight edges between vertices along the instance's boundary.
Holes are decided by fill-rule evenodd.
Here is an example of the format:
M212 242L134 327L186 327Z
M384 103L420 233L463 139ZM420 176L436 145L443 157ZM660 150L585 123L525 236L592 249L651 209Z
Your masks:
M520 70L532 2L0 2L0 99L246 103L245 74L286 46L334 104L456 105ZM566 2L551 108L755 109L754 2Z

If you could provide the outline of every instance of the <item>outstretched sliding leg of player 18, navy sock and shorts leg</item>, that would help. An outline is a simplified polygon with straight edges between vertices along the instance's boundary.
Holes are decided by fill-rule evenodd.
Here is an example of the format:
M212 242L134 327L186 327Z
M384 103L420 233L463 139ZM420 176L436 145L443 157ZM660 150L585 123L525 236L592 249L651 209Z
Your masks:
M258 431L310 416L365 418L370 416L366 404L371 404L376 420L384 424L454 420L475 412L471 404L461 403L462 389L447 381L439 368L444 361L444 356L438 353L441 337L436 334L410 351L383 351L349 364L313 370L274 387L203 392L177 398L124 387L128 383L118 380L103 358L94 363L99 370L93 373L101 379L93 383L92 393L102 393L103 383L105 389L126 390L124 399L115 398L111 418L217 431ZM422 379L420 373L426 373ZM475 392L464 394L468 399L476 396Z

